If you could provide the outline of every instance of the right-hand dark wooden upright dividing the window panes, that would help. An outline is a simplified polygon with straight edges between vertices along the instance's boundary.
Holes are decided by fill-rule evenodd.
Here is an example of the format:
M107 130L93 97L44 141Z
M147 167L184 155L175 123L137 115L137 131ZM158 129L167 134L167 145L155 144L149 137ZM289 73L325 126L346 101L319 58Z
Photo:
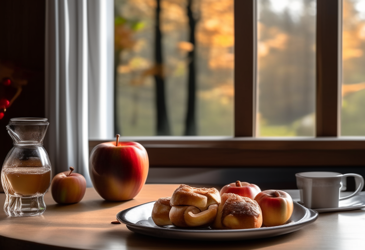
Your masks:
M316 136L339 135L342 0L317 0Z

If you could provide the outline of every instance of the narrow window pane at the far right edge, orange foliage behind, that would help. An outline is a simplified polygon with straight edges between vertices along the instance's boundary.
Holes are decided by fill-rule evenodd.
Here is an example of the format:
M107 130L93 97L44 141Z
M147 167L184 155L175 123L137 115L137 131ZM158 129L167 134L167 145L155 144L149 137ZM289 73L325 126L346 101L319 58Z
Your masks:
M343 2L341 135L365 135L365 1Z

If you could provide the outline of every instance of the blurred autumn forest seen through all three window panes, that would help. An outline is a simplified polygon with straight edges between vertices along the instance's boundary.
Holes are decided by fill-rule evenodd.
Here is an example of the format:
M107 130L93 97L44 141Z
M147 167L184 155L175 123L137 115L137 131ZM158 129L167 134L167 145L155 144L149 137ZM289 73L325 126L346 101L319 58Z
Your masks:
M233 135L233 10L115 0L116 132ZM365 0L343 17L342 135L365 135ZM315 0L258 0L258 136L315 134L315 19Z

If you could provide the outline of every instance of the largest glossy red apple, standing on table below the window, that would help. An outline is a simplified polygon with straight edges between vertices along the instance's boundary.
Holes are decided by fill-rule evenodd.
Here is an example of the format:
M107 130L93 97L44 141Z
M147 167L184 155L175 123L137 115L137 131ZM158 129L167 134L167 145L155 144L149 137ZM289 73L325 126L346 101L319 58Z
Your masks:
M134 198L148 174L146 149L133 141L100 143L92 150L89 173L96 191L108 201Z

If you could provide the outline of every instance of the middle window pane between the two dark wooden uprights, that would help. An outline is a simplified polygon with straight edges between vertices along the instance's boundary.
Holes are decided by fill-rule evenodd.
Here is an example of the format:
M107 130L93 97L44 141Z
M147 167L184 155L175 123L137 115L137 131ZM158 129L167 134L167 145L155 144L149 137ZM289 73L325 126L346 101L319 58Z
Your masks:
M258 0L258 136L314 136L314 0Z

